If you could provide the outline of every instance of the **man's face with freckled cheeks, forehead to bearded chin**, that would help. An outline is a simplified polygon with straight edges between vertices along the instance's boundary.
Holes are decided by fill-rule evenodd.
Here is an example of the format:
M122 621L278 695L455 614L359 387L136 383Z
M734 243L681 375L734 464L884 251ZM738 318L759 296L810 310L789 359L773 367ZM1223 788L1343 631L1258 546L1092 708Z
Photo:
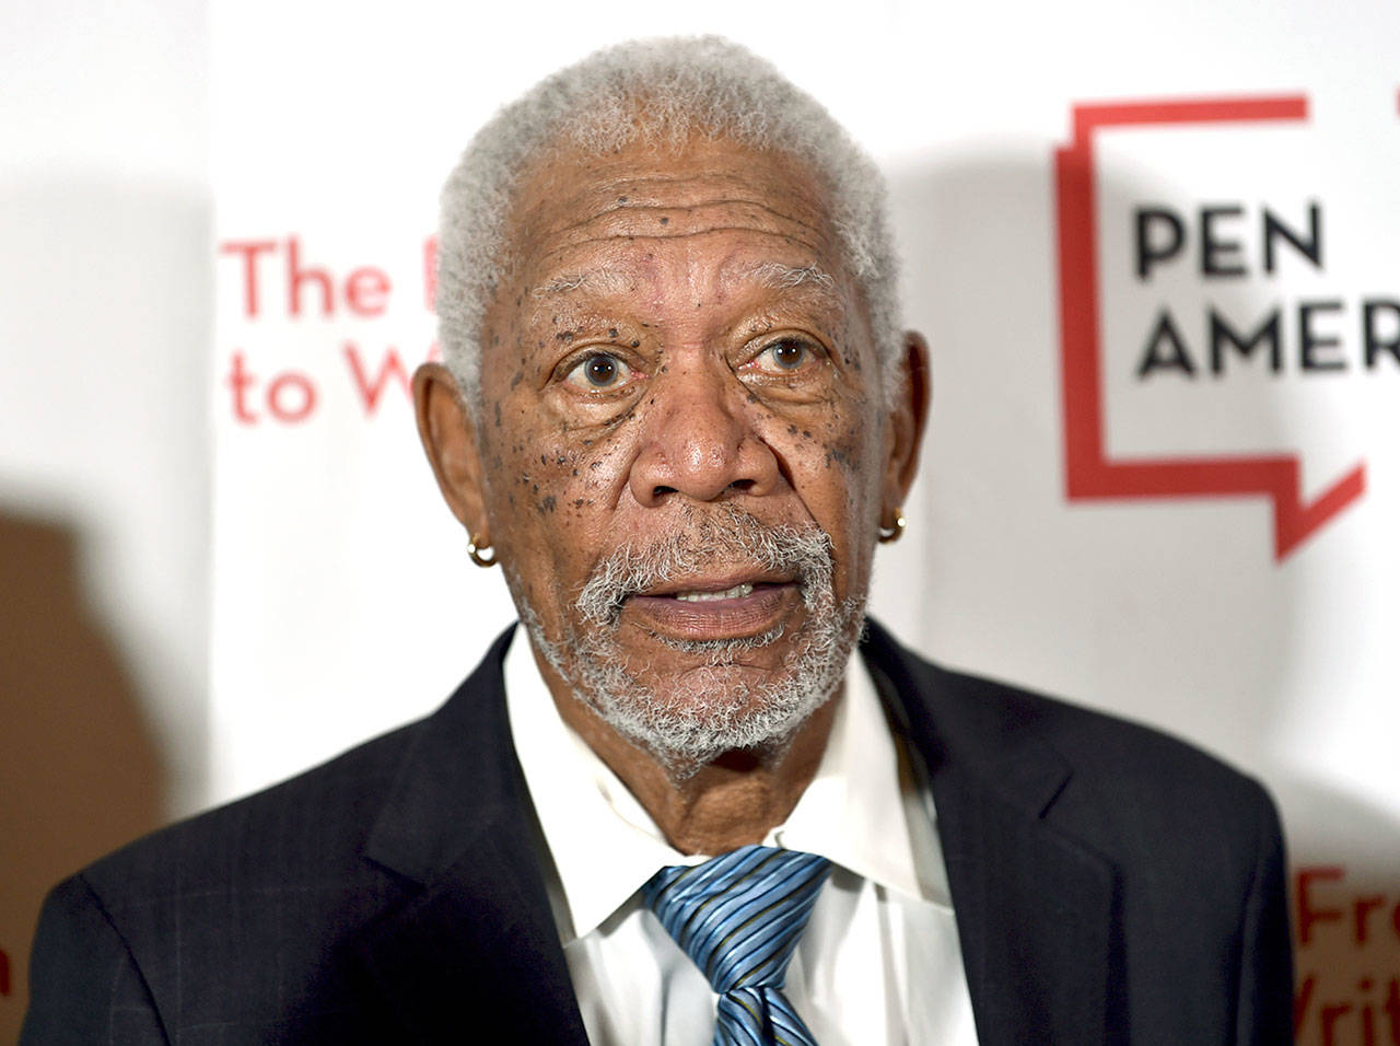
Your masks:
M840 679L897 470L864 307L795 161L570 160L525 181L484 323L489 539L615 728L776 739Z

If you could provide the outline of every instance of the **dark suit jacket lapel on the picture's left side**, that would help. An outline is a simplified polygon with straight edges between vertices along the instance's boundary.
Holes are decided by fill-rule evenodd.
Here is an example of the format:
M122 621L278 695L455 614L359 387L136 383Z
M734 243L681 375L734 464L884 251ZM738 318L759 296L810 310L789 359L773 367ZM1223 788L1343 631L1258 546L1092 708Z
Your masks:
M357 947L395 1042L587 1043L510 735L508 641L424 724L365 844L419 886Z

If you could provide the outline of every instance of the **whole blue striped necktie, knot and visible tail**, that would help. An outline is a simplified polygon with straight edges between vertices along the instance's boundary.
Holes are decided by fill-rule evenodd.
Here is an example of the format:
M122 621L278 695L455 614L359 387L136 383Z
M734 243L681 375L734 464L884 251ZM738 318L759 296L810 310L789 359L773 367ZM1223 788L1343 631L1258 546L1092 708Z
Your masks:
M662 868L641 895L720 994L714 1046L816 1046L783 994L788 961L832 863L745 846Z

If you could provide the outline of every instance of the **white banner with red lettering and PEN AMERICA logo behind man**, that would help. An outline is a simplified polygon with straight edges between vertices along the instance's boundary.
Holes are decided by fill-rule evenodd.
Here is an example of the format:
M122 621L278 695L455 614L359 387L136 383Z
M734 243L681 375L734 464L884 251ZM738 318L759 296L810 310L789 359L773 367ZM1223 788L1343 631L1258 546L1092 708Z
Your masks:
M214 4L210 800L431 710L512 619L409 399L468 137L722 32L890 181L935 396L874 612L1261 777L1299 1040L1400 1043L1400 17L458 7Z

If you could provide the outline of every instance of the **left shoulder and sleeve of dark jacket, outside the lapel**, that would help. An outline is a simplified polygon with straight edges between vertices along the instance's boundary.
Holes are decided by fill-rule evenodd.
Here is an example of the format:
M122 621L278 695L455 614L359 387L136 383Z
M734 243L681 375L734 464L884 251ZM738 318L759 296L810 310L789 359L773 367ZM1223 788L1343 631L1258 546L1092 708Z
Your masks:
M356 987L337 956L405 896L358 854L419 728L154 832L55 886L21 1042L223 1042L244 1019L269 1040L308 1022L323 1040L357 1040ZM297 1004L314 1015L283 1010L284 997L314 1000Z

